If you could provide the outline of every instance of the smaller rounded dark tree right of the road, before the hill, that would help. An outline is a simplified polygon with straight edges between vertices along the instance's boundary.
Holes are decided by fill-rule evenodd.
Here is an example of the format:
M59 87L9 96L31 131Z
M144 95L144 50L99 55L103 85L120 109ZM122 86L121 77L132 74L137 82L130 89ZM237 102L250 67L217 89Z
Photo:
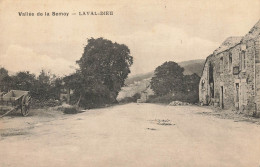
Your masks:
M151 80L151 88L155 95L183 91L183 71L184 68L173 61L165 62L157 67Z

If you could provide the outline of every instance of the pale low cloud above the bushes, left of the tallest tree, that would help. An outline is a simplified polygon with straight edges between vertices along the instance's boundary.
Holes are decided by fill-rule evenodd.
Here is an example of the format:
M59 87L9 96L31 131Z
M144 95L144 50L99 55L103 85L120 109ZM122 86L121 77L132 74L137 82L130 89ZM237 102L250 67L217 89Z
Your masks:
M37 54L33 49L19 45L10 45L0 60L0 65L9 71L30 71L36 74L45 69L57 75L66 75L75 71L76 66L66 59Z

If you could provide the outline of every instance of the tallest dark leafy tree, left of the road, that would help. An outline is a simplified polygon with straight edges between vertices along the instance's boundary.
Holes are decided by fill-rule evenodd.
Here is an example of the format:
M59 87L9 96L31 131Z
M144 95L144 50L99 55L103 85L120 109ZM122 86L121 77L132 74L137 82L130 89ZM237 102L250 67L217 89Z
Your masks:
M133 57L124 44L91 38L77 63L80 70L75 77L79 80L74 85L80 86L77 86L75 93L82 97L83 105L104 104L116 101L130 73Z

